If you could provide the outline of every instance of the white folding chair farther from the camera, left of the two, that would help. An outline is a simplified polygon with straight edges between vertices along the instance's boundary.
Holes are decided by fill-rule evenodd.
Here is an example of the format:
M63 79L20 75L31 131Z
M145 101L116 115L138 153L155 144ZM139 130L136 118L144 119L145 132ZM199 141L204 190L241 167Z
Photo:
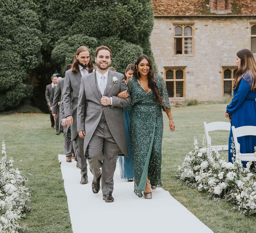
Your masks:
M230 123L224 122L224 121L215 121L207 124L206 122L204 122L204 131L206 135L207 146L211 146L212 151L215 151L216 149L218 151L222 151L222 150L227 151L228 145L212 145L211 137L209 136L208 132L215 131L215 130L230 131Z

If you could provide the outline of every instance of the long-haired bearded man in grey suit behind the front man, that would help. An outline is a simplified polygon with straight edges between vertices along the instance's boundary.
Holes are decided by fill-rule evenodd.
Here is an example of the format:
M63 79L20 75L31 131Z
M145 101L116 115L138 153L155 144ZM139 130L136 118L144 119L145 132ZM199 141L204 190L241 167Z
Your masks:
M66 71L63 88L63 107L66 121L71 125L71 140L76 142L76 156L78 166L81 169L80 184L87 184L87 163L84 157L84 139L77 133L77 101L80 89L81 77L93 71L90 50L81 46L77 49L72 68Z

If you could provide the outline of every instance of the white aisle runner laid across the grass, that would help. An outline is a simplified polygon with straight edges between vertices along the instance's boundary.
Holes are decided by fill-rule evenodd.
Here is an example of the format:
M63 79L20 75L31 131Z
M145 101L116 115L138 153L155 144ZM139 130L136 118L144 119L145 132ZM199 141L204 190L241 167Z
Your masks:
M76 162L65 162L66 156L62 154L58 158L74 233L212 232L162 188L152 191L152 199L137 197L133 192L134 183L120 178L118 163L112 194L115 201L106 203L101 190L92 193L93 176L89 165L89 183L80 184L80 169L75 167Z

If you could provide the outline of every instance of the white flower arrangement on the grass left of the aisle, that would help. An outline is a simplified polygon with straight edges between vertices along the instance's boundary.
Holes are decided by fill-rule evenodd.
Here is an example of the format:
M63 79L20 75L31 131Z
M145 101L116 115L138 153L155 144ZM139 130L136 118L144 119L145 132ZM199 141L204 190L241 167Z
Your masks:
M20 227L18 220L29 211L30 192L26 188L26 178L18 168L13 168L13 159L6 155L5 143L2 141L0 159L0 233L16 233Z

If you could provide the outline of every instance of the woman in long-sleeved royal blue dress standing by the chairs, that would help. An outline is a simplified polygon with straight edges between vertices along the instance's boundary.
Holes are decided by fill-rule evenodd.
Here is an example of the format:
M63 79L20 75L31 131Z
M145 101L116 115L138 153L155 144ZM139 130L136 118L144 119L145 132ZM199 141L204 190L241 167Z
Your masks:
M231 125L236 128L245 125L256 126L256 62L252 52L242 49L237 54L236 64L238 66L233 86L231 103L227 106L225 116L231 118ZM232 130L229 135L228 161L232 162L231 152ZM256 136L238 137L241 153L253 153L256 146ZM246 161L242 162L246 167Z

